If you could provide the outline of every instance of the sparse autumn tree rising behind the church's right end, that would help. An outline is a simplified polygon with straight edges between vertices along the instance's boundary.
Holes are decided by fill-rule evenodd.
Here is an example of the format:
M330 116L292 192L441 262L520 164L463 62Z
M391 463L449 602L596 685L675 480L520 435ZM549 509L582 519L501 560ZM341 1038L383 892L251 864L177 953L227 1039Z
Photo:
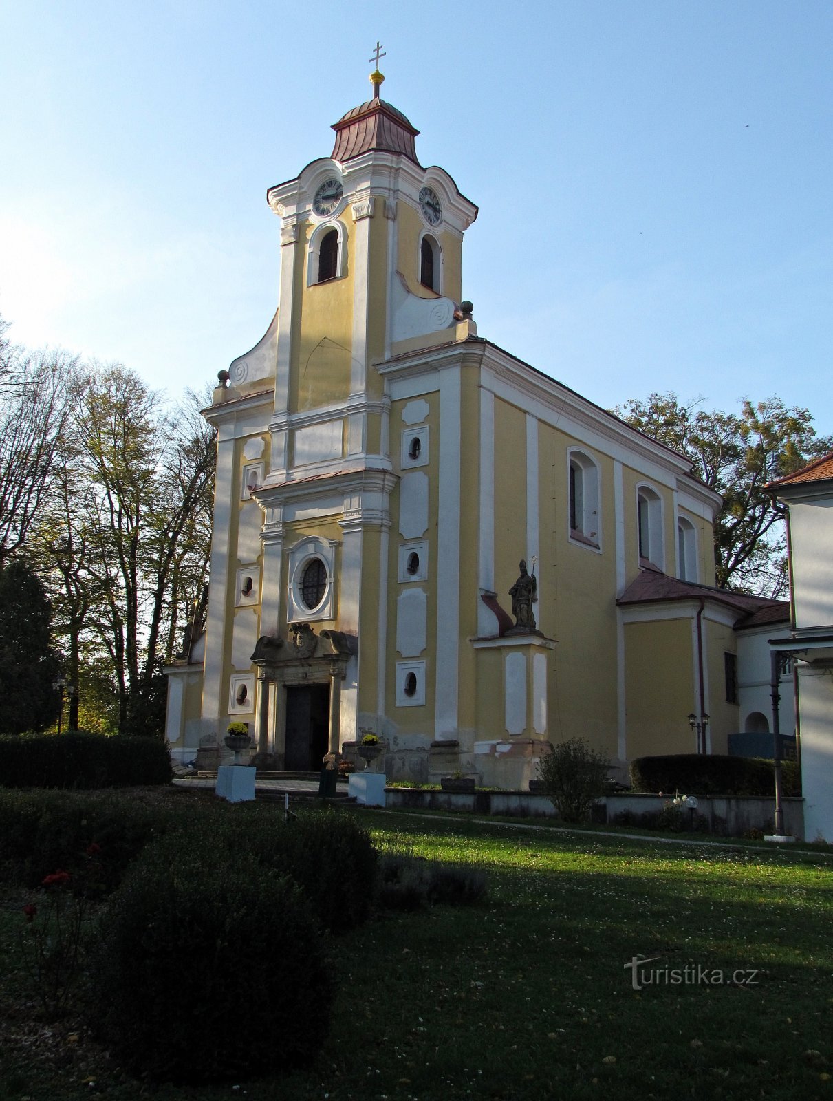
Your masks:
M780 597L788 586L783 519L765 487L831 450L833 437L816 435L810 412L779 397L744 401L739 414L700 405L651 393L613 412L684 455L723 498L714 524L719 588Z

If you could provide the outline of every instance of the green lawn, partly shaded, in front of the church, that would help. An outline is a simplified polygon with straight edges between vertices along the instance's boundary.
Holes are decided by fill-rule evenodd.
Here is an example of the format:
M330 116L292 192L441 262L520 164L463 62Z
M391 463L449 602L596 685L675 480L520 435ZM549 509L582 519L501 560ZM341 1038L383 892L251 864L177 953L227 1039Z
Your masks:
M308 1071L234 1090L145 1087L146 1095L831 1095L833 865L823 855L353 813L382 847L484 866L487 904L383 915L335 940L333 1025ZM8 903L0 936L13 972L19 900ZM632 988L625 964L635 956L658 957L648 967L659 969L659 985ZM720 969L725 982L670 984L671 970L687 967L689 978ZM754 984L733 983L739 970L756 972ZM18 980L12 973L0 995L0 1098L140 1094L77 1021L51 1043L44 1026L24 1027ZM263 1043L280 1051L280 1037Z

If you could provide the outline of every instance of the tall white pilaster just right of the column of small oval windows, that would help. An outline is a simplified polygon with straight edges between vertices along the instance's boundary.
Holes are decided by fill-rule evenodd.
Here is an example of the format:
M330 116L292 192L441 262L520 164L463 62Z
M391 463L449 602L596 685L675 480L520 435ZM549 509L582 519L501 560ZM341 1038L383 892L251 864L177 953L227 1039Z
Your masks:
M460 367L440 372L435 739L457 738L460 647ZM415 477L410 475L409 477Z

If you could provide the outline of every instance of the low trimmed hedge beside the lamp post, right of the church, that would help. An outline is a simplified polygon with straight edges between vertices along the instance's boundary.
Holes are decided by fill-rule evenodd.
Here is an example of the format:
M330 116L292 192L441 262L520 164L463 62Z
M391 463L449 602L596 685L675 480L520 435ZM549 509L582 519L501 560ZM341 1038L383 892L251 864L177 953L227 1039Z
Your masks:
M801 781L794 761L781 762L785 795L800 795ZM720 756L679 753L637 757L631 762L631 784L635 792L670 795L771 796L775 774L771 761L763 757Z

